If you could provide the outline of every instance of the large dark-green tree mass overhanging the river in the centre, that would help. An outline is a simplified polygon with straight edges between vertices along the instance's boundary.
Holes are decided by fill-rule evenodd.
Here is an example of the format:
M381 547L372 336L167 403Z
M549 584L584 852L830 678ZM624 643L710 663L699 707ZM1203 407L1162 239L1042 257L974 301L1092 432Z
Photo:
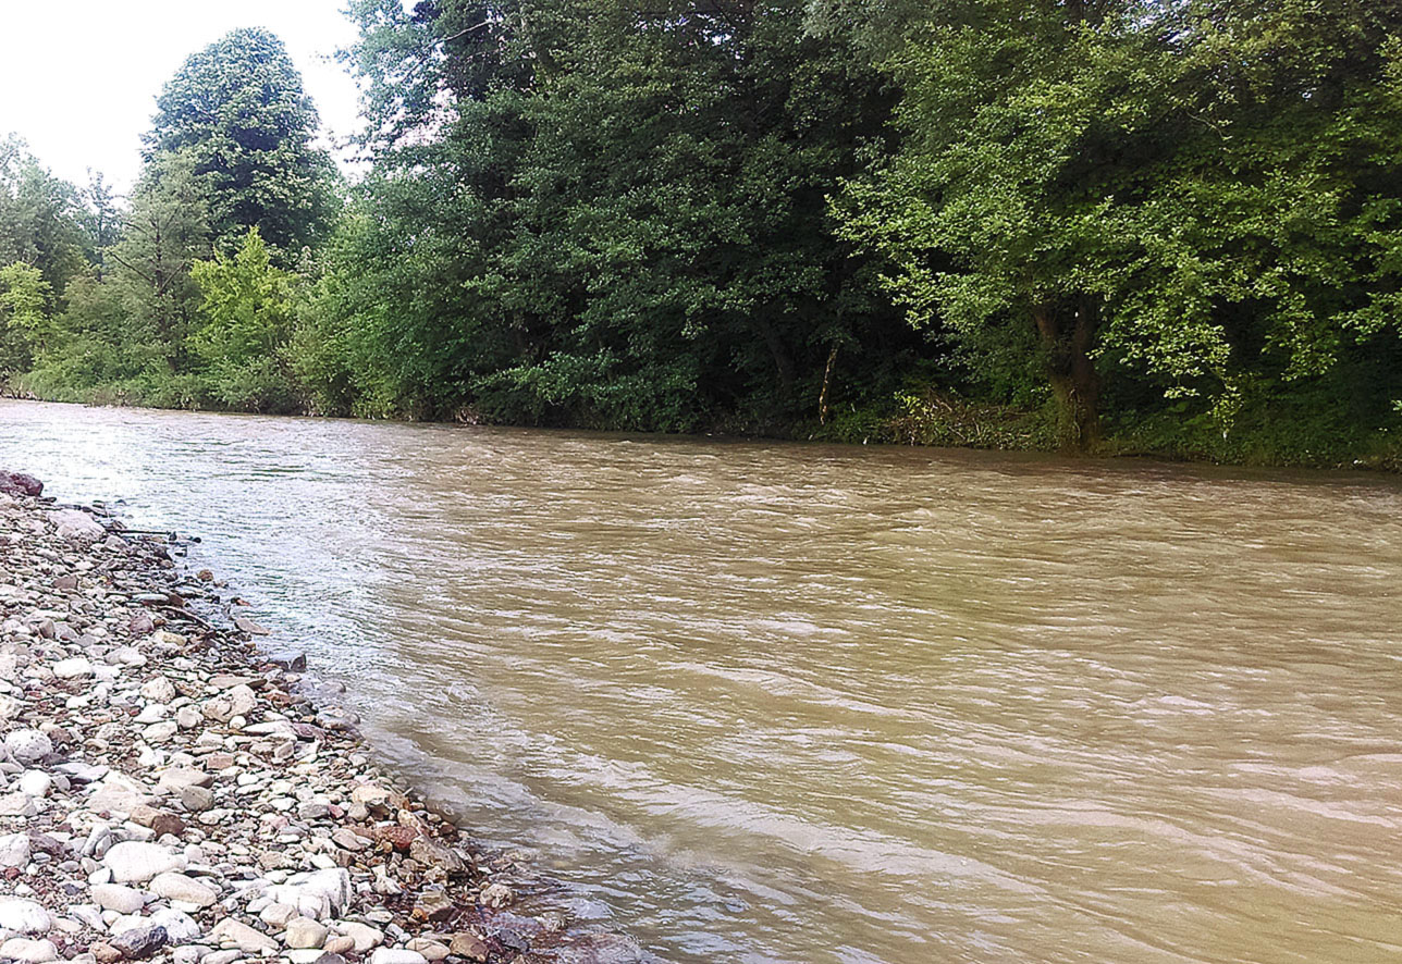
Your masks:
M918 349L824 203L889 132L889 87L801 3L353 10L359 240L391 310L343 329L383 331L409 408L782 425L819 415L840 352L854 398Z

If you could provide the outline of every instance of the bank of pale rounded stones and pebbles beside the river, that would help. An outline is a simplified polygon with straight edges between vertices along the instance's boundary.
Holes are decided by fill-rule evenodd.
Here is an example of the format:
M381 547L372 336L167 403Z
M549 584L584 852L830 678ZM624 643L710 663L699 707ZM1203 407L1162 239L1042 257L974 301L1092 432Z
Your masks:
M524 912L538 879L390 779L304 660L220 607L167 538L0 472L0 958L648 960Z

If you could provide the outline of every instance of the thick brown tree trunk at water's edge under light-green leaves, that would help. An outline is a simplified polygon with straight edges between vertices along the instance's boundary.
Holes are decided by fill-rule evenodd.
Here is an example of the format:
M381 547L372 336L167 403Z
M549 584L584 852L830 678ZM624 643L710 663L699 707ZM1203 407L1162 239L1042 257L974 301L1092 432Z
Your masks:
M1032 318L1047 353L1047 377L1057 404L1061 447L1068 451L1089 451L1101 440L1101 380L1091 357L1095 308L1082 301L1067 318L1049 305L1039 305Z

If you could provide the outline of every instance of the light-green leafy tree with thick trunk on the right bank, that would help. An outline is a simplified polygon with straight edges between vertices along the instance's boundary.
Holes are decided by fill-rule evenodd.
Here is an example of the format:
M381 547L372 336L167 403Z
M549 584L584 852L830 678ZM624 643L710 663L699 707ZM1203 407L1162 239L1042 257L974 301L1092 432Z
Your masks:
M848 237L921 326L1033 328L1064 439L1102 377L1209 397L1395 339L1402 8L949 0L887 66L904 149L848 185ZM995 340L995 339L993 339Z

